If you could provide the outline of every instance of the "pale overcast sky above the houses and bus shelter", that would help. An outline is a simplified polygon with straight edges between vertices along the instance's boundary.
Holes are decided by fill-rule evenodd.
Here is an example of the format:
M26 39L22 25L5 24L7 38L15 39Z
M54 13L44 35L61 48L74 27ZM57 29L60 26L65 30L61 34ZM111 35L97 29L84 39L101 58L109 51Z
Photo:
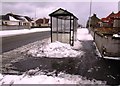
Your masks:
M31 18L49 18L49 14L58 8L73 13L83 25L90 14L89 2L2 2L2 14L12 12ZM92 2L92 14L96 13L99 18L106 17L111 12L118 12L118 2Z

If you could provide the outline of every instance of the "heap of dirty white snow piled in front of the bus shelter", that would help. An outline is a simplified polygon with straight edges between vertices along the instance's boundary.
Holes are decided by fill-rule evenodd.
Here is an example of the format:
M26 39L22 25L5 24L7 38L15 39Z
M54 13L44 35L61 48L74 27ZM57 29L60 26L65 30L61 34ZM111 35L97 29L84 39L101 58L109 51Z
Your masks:
M83 52L74 50L74 47L69 44L56 41L42 47L38 46L31 49L27 54L32 55L33 57L64 58L78 57L83 55Z

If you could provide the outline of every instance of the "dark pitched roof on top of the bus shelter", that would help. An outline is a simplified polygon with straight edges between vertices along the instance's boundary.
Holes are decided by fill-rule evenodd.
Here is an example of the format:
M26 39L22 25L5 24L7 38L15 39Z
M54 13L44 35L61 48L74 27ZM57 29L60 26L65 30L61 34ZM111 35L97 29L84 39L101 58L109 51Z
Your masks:
M58 10L52 12L51 14L49 14L49 16L57 17L57 18L60 18L60 19L70 19L70 16L73 16L74 18L78 19L71 12L68 12L67 10L64 10L62 8L59 8Z

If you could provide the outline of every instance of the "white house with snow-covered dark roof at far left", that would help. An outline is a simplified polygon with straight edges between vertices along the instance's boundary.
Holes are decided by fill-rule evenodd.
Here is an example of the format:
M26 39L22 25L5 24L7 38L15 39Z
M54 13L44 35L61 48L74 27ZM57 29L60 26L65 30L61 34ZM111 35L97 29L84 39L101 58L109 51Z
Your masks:
M13 27L14 28L30 28L31 22L33 20L29 18L28 16L21 16L16 15L13 13L7 13L6 15L0 16L0 26L2 26L3 29Z

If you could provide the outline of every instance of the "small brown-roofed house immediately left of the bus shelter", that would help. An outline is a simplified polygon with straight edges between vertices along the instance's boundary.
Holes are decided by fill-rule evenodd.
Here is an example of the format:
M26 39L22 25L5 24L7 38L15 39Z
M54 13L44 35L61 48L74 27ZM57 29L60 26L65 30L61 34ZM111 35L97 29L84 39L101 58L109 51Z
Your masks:
M37 27L49 27L49 19L48 18L39 18L36 21Z

